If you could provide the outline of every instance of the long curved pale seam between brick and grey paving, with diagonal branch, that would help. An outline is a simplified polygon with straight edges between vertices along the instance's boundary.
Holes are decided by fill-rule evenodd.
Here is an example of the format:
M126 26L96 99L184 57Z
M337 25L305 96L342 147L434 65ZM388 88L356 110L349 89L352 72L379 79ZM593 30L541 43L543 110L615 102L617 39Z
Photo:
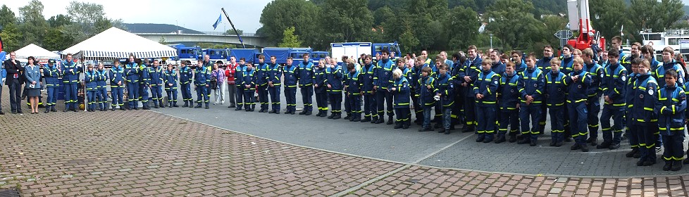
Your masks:
M380 160L380 161L385 161L385 162L389 162L389 163L398 163L398 164L402 164L402 165L417 165L417 166L421 166L421 167L433 167L433 168L443 169L443 170L460 170L460 171L465 171L465 172L481 172L481 173L488 173L488 174L496 174L496 173L498 173L498 174L510 174L510 175L533 176L533 177L611 178L611 179L654 178L654 177L677 177L677 176L689 175L689 173L685 173L685 174L650 174L650 175L634 175L634 176L585 176L585 175L581 175L581 176L580 176L580 175L564 175L564 174L528 174L528 173L514 173L514 172L491 172L491 171L472 170L472 169L464 169L464 168L457 168L457 167L438 167L438 166L433 166L433 165L422 165L422 164L418 164L419 162L421 162L420 160L416 160L415 163L405 163L405 162L400 162L400 161L395 161L395 160L386 160L386 159L381 159L381 158L372 158L372 157L368 157L368 156L364 156L364 155L354 155L354 154L351 154L351 153L341 153L341 152L337 152L337 151L330 151L330 150L326 150L326 149L323 149L323 148L316 148L316 147L311 147L311 146L303 146L303 145L299 145L299 144L292 144L292 143L285 142L285 141L279 141L279 140L275 140L275 139L269 139L269 138L266 138L266 137L263 137L263 136L255 136L255 135L253 135L253 134L247 134L247 133L244 133L244 132L237 132L237 131L235 131L235 130L225 129L225 128L223 128L223 127L218 127L218 126L215 126L215 125L209 125L209 124L206 124L206 123L204 123L204 122L199 122L199 121L195 121L195 120L190 120L190 119L187 119L187 118L185 118L185 117L178 117L178 116L175 116L175 115L170 115L170 114L166 114L166 113L161 113L161 112L159 112L159 111L150 110L150 112L159 113L159 114L162 114L162 115L167 115L167 116L169 116L169 117L179 118L179 119L181 119L181 120L187 120L187 121L190 121L190 122L195 122L195 123L197 123L197 124L206 125L206 126L213 127L213 128L217 128L217 129L223 129L223 130L226 130L226 131L235 132L235 133L237 133L237 134L244 134L244 135L246 135L246 136L252 136L252 137L259 138L259 139L265 139L265 140L268 140L268 141L275 141L275 142L282 143L282 144L287 144L287 145L290 145L290 146L297 146L297 147L301 147L301 148L309 148L309 149L313 149L313 150L317 150L317 151L325 151L325 152L328 152L328 153L336 153L336 154L340 154L340 155L348 155L348 156L353 156L353 157L358 157L358 158L366 158L366 159L371 159L371 160ZM445 146L445 147L441 148L440 151L444 150L445 148L449 148L449 147L451 147L452 145L457 144L457 143L459 143L460 141L463 141L464 139L468 139L468 137L474 136L474 135L475 135L475 134L471 134L471 135L465 136L464 138L459 139L458 141L455 141L453 144L450 144L450 145L448 145L448 146ZM435 154L437 154L437 153L440 153L440 151L435 151L434 153L430 153L429 155L430 155L430 156L435 155ZM429 157L430 157L429 155L426 155L426 158L429 158ZM421 159L421 160L425 160L426 158L423 158L423 159Z

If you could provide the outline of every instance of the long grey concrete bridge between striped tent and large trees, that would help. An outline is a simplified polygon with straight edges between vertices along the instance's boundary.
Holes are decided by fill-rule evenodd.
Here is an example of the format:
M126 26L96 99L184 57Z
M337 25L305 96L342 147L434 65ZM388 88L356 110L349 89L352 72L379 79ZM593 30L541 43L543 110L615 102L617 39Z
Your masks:
M137 33L140 37L159 42L165 39L166 43L180 43L180 42L206 42L206 43L221 43L221 44L241 44L239 37L235 34L223 34L221 32L204 32L204 34L179 34L179 33ZM242 40L247 46L269 46L266 37L257 36L256 34L242 34Z

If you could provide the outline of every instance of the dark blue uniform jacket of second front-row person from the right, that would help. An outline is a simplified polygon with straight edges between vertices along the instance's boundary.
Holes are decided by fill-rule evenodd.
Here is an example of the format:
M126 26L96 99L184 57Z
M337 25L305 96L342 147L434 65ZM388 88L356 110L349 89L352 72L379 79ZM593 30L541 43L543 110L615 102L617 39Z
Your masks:
M655 113L655 103L657 102L658 82L651 77L650 73L645 75L638 75L633 84L636 89L633 94L633 106L631 108L631 115L627 118L632 119L632 122L650 123L657 122L658 115Z

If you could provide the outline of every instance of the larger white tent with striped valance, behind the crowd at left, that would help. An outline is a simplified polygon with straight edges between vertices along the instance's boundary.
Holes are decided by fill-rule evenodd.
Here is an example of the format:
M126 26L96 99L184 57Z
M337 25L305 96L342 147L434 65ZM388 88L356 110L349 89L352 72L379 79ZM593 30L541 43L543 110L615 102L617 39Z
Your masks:
M74 54L75 58L87 60L128 58L130 53L137 58L161 58L177 56L177 50L136 34L111 27L100 34L86 39L60 52Z

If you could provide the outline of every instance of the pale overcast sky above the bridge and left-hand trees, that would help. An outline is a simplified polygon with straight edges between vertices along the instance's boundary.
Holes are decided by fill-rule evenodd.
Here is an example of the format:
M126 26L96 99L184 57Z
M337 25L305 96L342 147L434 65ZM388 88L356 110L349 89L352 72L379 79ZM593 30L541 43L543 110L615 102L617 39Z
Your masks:
M66 14L65 8L70 1L74 0L42 0L44 17L48 19L54 15ZM108 18L122 19L124 23L180 25L201 32L224 32L227 29L232 29L225 15L223 15L223 23L218 25L216 30L213 30L213 23L223 13L220 8L225 8L237 30L244 30L247 33L256 32L261 27L261 23L259 23L261 11L268 2L271 2L271 0L79 1L101 4ZM19 16L19 8L29 4L29 0L4 1L1 4L6 4L14 11L15 15Z

